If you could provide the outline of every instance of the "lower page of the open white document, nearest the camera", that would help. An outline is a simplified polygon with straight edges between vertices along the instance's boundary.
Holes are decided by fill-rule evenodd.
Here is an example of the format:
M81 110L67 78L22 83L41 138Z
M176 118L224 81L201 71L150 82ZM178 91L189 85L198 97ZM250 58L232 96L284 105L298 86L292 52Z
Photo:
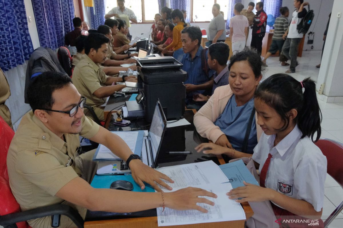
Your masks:
M216 199L204 197L214 202L214 206L205 203L197 204L208 210L208 213L202 213L197 210L178 211L168 207L166 207L164 212L162 212L162 207L158 207L158 226L174 226L246 219L244 209L240 203L237 203L235 200L230 200L226 195L226 192L232 189L230 183L207 184L189 187L203 188L207 191L215 193L217 195ZM178 189L175 188L174 190Z

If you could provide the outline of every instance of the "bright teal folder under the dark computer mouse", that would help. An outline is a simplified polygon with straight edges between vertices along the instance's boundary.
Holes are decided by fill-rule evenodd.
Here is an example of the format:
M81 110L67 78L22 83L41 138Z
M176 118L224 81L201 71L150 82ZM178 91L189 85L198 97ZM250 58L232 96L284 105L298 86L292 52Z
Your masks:
M148 184L145 184L145 188L142 190L141 187L134 182L131 175L95 175L91 186L93 188L109 188L112 182L116 180L127 180L133 184L133 190L137 192L155 192L155 190Z

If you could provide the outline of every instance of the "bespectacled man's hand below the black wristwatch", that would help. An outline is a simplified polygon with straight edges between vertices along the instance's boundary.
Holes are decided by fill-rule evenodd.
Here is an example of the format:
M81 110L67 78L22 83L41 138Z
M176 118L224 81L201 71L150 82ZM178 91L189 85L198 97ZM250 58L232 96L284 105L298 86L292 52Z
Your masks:
M156 191L162 191L157 184L165 187L168 190L172 190L172 188L163 182L162 179L165 179L169 183L174 183L174 180L170 179L167 175L152 169L150 166L143 164L141 160L131 160L130 169L134 181L141 187L142 190L145 188L143 182L151 185Z

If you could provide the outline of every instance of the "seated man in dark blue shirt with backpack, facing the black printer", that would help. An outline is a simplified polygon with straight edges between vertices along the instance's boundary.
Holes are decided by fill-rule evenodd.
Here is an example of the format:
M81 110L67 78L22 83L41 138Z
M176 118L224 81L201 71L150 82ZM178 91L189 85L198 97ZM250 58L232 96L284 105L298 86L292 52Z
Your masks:
M181 63L182 69L187 72L186 106L189 109L199 110L205 102L196 102L193 95L211 95L213 87L214 70L208 66L208 50L203 49L201 44L201 30L199 27L186 27L181 31L182 50L184 56Z

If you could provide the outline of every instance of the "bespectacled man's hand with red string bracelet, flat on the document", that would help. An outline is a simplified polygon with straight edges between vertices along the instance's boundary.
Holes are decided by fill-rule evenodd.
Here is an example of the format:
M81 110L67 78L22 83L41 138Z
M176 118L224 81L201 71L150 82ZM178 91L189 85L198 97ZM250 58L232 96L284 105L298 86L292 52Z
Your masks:
M206 191L201 188L182 188L174 192L165 192L165 205L171 209L175 210L190 210L195 209L203 213L207 213L208 210L197 205L197 203L206 203L209 205L214 205L214 202L199 196L208 196L212 198L217 198L212 192Z

